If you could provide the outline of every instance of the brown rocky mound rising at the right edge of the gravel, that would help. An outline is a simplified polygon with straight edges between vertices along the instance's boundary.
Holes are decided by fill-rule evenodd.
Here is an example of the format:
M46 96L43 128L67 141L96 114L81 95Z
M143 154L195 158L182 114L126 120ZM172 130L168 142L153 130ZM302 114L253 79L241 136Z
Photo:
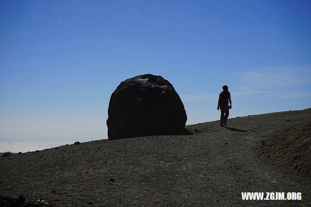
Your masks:
M276 130L262 143L270 160L311 183L311 118Z

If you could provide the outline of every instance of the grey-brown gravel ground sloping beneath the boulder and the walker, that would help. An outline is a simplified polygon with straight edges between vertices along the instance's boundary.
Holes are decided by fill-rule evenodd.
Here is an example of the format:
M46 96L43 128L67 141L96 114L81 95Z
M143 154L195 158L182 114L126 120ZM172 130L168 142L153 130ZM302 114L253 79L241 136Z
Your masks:
M0 194L50 206L311 206L307 179L261 141L311 108L188 125L193 135L96 140L0 158ZM301 192L300 201L243 201L241 192Z

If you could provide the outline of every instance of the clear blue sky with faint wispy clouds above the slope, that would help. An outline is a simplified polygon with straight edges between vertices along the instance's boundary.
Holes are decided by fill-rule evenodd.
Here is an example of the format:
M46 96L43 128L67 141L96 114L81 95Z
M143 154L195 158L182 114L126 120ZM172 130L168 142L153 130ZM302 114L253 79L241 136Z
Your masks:
M2 0L0 141L107 138L121 81L169 80L187 124L311 107L310 0ZM229 124L229 122L228 122Z

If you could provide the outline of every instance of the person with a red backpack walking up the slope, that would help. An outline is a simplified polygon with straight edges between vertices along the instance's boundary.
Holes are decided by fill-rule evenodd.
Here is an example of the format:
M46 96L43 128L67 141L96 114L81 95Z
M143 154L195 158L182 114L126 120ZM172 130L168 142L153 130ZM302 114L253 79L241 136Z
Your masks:
M230 105L228 105L230 103ZM228 91L228 86L223 86L223 91L219 94L219 99L218 99L218 105L217 105L217 110L221 111L220 115L220 126L224 127L227 126L227 119L229 116L229 109L232 108L232 102L231 102L231 96L230 92Z

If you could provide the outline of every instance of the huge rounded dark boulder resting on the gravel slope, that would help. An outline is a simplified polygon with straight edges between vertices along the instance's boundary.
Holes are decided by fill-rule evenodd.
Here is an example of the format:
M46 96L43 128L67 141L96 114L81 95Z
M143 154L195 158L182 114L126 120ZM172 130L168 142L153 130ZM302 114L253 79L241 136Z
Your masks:
M111 94L108 139L176 135L186 121L184 104L169 81L138 75L121 82Z

